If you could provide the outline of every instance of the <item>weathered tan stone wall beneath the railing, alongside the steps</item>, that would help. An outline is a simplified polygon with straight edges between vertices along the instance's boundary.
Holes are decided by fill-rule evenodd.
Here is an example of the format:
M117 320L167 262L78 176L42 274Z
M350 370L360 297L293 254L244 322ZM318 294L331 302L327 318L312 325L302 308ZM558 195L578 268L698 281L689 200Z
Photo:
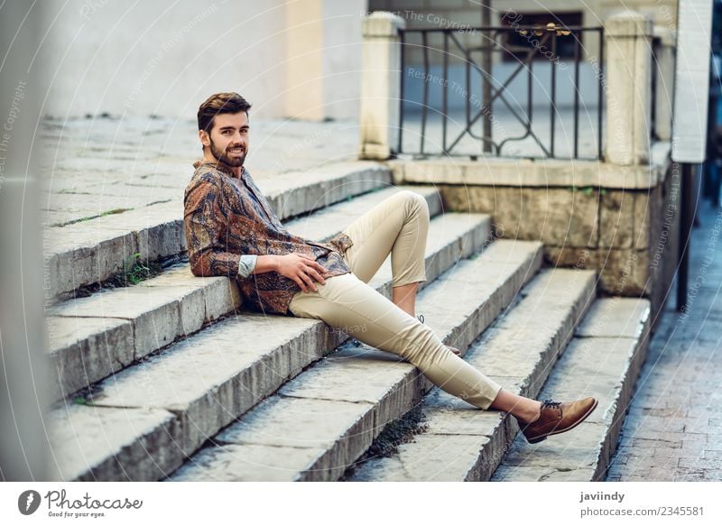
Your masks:
M596 270L601 294L649 298L656 314L678 262L680 174L673 166L666 162L651 188L428 182L439 186L445 210L490 214L497 236L542 241L549 266Z

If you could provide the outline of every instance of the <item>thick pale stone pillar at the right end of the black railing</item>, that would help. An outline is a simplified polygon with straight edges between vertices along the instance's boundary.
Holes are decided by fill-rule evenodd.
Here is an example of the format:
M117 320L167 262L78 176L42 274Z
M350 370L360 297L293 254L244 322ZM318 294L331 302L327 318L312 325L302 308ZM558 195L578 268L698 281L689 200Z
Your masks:
M646 164L652 117L652 20L612 14L605 27L606 161Z

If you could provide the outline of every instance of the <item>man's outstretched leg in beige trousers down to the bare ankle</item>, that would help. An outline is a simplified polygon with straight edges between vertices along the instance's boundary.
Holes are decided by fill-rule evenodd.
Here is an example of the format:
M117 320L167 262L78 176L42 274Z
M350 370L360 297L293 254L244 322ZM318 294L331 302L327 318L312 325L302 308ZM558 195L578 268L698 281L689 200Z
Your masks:
M539 402L504 392L498 383L454 355L431 328L408 316L372 287L348 273L318 284L318 292L299 292L290 308L295 316L318 318L353 334L369 346L402 356L432 383L480 409L503 409L528 417Z

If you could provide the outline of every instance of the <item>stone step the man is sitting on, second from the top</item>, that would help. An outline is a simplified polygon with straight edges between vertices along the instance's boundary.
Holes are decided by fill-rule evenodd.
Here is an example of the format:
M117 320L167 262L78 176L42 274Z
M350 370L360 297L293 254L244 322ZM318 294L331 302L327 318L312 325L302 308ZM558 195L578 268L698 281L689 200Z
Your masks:
M433 187L390 187L323 208L285 226L294 234L326 241L385 198L408 189L427 199L432 217L441 212L439 192ZM489 235L486 226L477 228L483 216L453 215L434 224L430 237L437 242L445 240L446 225L454 225L453 232L460 235L465 220L469 231ZM431 258L430 264L445 261ZM233 281L226 277L196 277L188 263L181 263L135 286L101 291L48 309L46 348L55 372L51 378L52 400L117 373L238 309L240 304Z

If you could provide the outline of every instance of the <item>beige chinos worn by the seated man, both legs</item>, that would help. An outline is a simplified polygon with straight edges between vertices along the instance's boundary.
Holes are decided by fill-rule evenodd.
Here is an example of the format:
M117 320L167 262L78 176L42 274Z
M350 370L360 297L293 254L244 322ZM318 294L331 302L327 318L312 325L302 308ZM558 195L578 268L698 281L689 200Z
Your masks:
M344 254L352 272L328 278L325 284L314 281L318 292L298 292L289 305L293 315L322 319L369 346L400 355L444 391L488 409L501 385L450 351L429 326L367 284L389 253L394 287L426 281L426 199L408 190L397 192L356 219L344 233L353 241Z

